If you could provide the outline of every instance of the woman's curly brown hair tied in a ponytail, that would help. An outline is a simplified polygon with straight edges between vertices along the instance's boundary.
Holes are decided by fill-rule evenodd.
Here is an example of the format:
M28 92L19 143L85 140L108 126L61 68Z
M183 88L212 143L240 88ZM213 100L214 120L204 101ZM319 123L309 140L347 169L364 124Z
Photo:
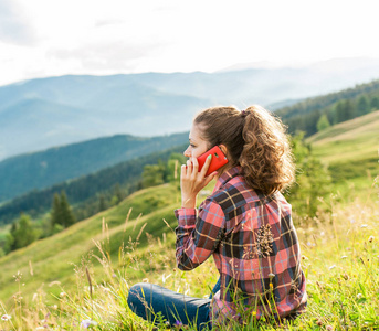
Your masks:
M295 179L295 167L286 128L261 106L240 111L213 107L193 120L210 147L224 145L231 166L241 166L246 183L270 195L283 191Z

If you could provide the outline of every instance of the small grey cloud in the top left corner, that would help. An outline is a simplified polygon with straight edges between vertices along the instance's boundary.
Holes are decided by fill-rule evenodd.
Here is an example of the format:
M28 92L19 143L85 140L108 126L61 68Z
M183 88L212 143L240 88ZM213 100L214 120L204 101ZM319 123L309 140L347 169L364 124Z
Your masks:
M18 45L34 42L31 25L11 0L0 2L0 41Z

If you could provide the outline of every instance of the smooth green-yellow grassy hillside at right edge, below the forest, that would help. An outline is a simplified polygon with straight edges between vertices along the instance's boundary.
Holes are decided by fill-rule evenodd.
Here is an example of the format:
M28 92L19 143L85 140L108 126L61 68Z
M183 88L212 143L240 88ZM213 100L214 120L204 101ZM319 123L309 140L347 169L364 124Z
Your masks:
M335 189L361 191L379 173L379 110L333 126L307 141L328 164Z

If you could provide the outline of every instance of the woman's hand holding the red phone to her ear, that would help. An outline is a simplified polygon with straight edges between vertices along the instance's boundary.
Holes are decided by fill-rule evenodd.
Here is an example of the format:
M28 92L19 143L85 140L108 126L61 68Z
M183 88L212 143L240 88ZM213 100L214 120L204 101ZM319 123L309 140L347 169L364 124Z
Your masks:
M187 164L181 166L180 186L181 186L181 206L186 209L196 207L196 199L199 192L217 175L217 171L206 177L211 163L212 156L209 156L199 171L197 158L191 158Z

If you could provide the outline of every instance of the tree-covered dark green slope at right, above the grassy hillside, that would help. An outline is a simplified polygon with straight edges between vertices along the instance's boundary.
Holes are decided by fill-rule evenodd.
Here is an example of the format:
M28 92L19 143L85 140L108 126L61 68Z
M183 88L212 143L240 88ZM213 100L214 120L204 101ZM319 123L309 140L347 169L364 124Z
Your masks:
M330 125L379 109L379 81L356 85L338 93L307 98L275 111L288 125L289 132L312 136Z

